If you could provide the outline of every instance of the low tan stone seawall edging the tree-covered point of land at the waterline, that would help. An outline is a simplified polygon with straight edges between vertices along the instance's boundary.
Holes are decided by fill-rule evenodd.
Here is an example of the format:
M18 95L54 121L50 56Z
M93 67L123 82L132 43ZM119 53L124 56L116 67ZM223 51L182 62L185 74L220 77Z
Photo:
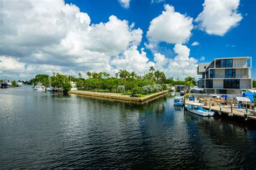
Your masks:
M68 94L76 94L76 95L84 95L90 97L100 97L100 98L107 98L111 100L120 100L120 101L132 101L132 102L143 102L146 100L150 100L151 98L155 98L157 96L163 95L168 93L169 90L160 91L158 93L146 96L146 97L130 97L121 94L115 93L104 93L104 92L94 92L94 91L79 91L79 90L71 90Z

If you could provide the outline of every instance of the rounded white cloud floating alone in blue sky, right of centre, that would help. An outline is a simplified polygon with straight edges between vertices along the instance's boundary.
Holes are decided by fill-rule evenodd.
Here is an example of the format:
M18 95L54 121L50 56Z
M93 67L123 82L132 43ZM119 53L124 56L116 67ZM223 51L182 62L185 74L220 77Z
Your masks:
M186 42L191 37L193 18L174 11L169 4L165 11L150 22L147 38L151 42L167 42L171 44Z

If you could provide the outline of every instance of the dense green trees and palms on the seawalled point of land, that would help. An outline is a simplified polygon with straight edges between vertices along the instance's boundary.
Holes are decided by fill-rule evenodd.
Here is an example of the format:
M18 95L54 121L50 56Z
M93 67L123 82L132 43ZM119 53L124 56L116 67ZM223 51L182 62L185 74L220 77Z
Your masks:
M145 76L139 76L134 72L129 73L127 70L120 69L115 77L110 77L110 74L105 72L87 72L88 79L83 79L78 75L79 78L73 77L73 81L76 82L78 90L119 93L132 97L141 97L166 90L165 74L158 70L155 72L153 67L150 67L150 71Z

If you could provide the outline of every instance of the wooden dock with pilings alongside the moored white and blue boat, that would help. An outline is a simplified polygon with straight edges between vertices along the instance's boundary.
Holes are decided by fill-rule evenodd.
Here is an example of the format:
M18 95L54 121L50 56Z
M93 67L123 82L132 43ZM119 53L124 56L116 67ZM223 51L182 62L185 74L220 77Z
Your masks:
M195 102L198 102L198 101L195 101ZM189 104L189 103L193 103L193 101L188 101L186 100L185 101L186 104ZM207 109L207 110L210 110L210 106L206 106L206 105L202 105L202 108L204 109ZM211 110L212 111L215 111L215 112L220 112L220 107L219 106L211 106ZM253 116L250 114L250 112L248 111L248 113L246 113L246 109L237 109L237 108L233 108L232 109L233 111L233 115L232 116L239 116L239 117L244 117L245 114L247 114L248 116L248 119L254 119L256 120L256 116ZM221 114L232 114L231 113L231 106L230 105L223 105L223 107L221 108Z

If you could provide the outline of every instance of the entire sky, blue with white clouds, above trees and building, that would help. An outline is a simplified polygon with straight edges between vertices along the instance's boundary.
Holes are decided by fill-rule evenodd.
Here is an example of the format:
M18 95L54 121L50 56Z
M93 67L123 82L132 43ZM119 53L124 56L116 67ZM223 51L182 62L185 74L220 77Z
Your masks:
M154 66L197 75L198 63L252 56L255 0L0 0L0 79Z

